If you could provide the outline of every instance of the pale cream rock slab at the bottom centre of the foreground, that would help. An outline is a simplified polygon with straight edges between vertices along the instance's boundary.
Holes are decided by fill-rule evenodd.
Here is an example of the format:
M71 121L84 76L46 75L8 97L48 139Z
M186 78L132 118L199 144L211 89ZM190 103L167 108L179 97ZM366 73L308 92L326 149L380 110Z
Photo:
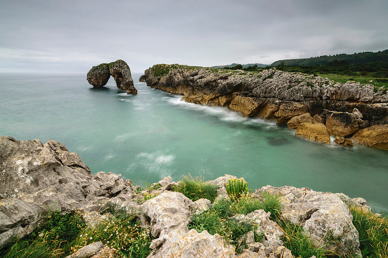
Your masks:
M235 252L234 246L226 243L220 235L210 235L206 230L198 233L185 225L153 240L150 248L154 250L148 258L233 258Z

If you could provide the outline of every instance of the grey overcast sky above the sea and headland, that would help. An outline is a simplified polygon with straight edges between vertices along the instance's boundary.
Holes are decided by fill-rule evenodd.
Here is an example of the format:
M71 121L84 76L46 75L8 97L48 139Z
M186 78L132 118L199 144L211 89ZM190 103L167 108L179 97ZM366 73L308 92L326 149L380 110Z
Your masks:
M0 0L0 72L270 64L388 48L388 0Z

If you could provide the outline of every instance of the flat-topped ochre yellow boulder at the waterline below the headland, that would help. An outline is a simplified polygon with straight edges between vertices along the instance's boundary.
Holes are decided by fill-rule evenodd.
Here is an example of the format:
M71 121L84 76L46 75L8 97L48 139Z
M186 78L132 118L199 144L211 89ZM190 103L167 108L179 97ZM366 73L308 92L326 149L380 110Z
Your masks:
M296 128L295 135L311 141L330 144L330 134L323 123L301 123Z

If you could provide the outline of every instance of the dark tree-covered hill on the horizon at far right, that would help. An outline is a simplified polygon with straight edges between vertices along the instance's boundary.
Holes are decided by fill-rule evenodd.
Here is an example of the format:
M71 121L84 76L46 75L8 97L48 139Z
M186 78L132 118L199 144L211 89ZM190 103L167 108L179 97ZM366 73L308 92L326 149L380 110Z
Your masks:
M388 49L378 52L360 52L354 53L351 55L347 54L337 54L333 56L320 56L312 58L301 58L301 59L286 59L278 60L271 64L271 66L276 66L279 64L283 65L320 65L329 61L347 61L349 64L354 63L369 63L383 61L388 63Z

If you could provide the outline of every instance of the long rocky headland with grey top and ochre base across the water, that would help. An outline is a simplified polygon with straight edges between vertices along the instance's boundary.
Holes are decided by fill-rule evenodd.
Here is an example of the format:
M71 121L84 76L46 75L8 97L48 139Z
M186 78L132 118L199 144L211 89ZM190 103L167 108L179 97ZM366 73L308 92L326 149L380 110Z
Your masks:
M388 150L388 94L358 82L276 70L245 72L178 64L145 71L148 86L247 117L275 119L307 139Z

